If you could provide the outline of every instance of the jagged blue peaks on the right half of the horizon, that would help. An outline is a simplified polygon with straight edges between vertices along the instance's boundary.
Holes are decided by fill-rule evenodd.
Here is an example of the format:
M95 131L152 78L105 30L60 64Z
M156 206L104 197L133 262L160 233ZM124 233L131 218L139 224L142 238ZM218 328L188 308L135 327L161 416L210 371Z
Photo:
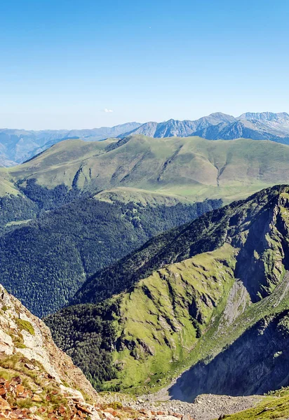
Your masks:
M156 138L199 136L208 140L232 140L242 137L289 144L289 114L248 112L235 118L218 112L195 121L168 120L163 123L145 123L131 132L119 135L119 138L129 134L145 134Z

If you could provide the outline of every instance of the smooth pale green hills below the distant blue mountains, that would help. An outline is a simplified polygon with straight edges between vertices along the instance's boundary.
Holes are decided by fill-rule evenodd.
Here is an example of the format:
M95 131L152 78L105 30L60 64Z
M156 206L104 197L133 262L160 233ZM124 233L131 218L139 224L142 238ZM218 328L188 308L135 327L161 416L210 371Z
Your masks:
M112 144L113 139L62 141L23 165L1 170L2 183L9 183L7 192L15 181L35 178L48 188L61 183L70 188L74 182L95 192L138 188L189 200L223 197L229 202L289 182L289 148L271 141L137 135L119 147Z

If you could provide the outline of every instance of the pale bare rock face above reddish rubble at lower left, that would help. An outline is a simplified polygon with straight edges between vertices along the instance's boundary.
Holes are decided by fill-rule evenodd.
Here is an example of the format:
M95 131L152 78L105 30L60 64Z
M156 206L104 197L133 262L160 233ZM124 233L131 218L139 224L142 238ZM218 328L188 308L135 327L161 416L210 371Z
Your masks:
M59 385L66 383L97 397L81 370L54 344L49 328L0 285L0 365L7 357L23 358L29 370L41 366Z

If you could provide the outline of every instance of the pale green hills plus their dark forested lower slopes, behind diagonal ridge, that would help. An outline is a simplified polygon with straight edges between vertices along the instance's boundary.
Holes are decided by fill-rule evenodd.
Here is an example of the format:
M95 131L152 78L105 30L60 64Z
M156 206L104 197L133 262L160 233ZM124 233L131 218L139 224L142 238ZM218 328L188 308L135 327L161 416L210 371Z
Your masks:
M250 139L61 141L0 170L1 281L34 314L51 314L150 238L289 183L288 160L288 146Z

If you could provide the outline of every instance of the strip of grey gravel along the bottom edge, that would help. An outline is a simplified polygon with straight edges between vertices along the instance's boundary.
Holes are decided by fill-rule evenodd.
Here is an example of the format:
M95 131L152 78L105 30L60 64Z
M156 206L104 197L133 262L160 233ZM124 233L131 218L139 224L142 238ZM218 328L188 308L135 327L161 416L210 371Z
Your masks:
M233 414L254 407L262 398L262 395L230 397L229 395L203 394L199 395L194 402L183 402L180 400L156 401L154 395L144 395L137 400L117 393L107 393L105 396L109 402L120 401L123 405L134 409L162 411L166 414L173 412L188 414L194 420L218 419L222 414Z

